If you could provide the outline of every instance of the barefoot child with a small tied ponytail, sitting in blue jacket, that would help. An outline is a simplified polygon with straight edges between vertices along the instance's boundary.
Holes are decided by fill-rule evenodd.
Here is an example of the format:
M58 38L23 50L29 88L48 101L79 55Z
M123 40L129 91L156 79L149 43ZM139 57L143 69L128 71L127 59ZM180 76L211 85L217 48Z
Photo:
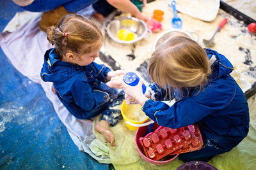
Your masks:
M99 27L81 15L65 15L49 27L47 38L54 48L45 52L42 80L53 82L56 95L74 117L90 119L101 113L95 129L115 146L109 126L116 125L122 115L111 106L124 99L124 92L116 90L121 88L120 81L111 78L125 72L93 62L104 41Z

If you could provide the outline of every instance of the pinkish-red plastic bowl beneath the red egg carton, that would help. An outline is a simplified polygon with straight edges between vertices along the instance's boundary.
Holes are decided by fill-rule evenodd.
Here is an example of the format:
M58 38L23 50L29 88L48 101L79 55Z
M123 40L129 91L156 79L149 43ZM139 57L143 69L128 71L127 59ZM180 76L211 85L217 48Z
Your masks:
M156 129L157 124L154 125L154 129ZM158 125L157 125L158 126ZM154 164L157 166L163 166L168 164L169 162L171 162L173 159L175 159L179 154L177 155L168 155L166 157L163 158L163 160L152 160L149 159L148 157L146 157L146 155L144 154L144 150L143 147L141 146L140 143L140 138L144 136L144 134L147 132L148 129L148 125L144 126L144 127L139 127L138 130L136 131L135 134L135 143L136 143L136 147L138 149L138 152L140 153L140 156L143 160L145 160L146 162L150 163L150 164Z

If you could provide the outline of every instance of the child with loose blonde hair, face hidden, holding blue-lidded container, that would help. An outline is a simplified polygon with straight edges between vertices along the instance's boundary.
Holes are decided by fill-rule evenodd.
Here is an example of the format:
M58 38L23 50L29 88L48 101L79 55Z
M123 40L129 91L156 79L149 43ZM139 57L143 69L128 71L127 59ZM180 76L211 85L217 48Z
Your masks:
M204 146L182 153L184 162L207 162L228 152L248 134L249 110L243 91L230 76L232 64L220 53L202 48L192 39L172 37L152 54L148 74L152 99L143 95L141 85L132 87L122 81L127 99L134 99L154 122L172 129L197 124ZM164 99L175 96L172 106Z

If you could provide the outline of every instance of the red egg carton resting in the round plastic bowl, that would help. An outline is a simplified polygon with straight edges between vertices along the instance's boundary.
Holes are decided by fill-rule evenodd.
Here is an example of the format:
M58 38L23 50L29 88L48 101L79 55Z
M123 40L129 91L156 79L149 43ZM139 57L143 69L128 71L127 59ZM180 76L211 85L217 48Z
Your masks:
M145 155L159 160L166 155L191 152L202 148L202 136L197 125L189 125L178 129L159 126L156 131L140 138Z

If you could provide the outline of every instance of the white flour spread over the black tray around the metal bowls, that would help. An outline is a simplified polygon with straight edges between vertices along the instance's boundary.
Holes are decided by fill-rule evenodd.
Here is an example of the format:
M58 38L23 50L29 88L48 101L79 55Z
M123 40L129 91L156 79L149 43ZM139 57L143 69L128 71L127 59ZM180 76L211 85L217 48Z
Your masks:
M148 17L152 17L154 10L161 9L164 11L163 21L161 22L163 25L163 31L173 29L171 23L173 11L172 8L168 6L168 2L169 1L166 0L154 1L152 3L148 3L143 8L143 13ZM244 86L245 89L243 90L244 92L248 90L248 83L252 85L256 81L255 34L250 34L243 22L237 20L232 15L229 15L221 9L218 11L216 19L212 22L204 22L202 20L192 18L184 13L179 13L178 15L182 19L182 30L187 32L197 32L200 37L198 43L203 47L204 43L202 39L211 39L220 22L224 18L228 19L227 24L220 32L218 32L218 34L216 34L214 38L214 43L216 43L216 45L212 47L212 49L225 55L225 57L227 57L227 59L236 66L240 77L236 77L236 75L234 75L234 78L237 81L239 78L243 78L243 81L246 82L246 85ZM143 62L150 58L154 41L159 34L161 34L161 32L154 33L150 38L142 39L134 45L122 45L106 38L106 51L111 55L111 57L113 57L113 59L116 60L116 62L118 62L118 64L120 64L122 69L127 71L136 71ZM195 34L191 35L195 36ZM127 56L131 53L135 55L135 59L133 60Z

